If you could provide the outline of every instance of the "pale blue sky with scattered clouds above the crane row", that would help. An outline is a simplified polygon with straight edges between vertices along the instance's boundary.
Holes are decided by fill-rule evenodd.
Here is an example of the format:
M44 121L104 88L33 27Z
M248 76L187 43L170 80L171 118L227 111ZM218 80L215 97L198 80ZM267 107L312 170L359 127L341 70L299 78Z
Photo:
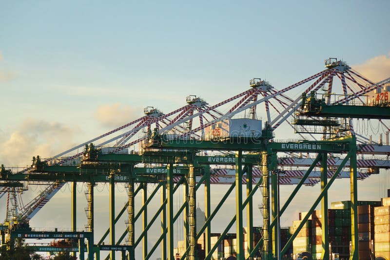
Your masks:
M175 110L189 94L215 104L254 77L282 89L322 71L328 57L382 80L389 8L385 0L1 1L0 162L28 165L139 118L143 107ZM375 178L362 199L379 198Z

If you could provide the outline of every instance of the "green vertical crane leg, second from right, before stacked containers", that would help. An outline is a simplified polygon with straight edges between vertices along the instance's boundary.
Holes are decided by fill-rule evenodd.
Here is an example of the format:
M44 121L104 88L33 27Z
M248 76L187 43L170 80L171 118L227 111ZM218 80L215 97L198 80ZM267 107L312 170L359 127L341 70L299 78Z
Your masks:
M328 184L328 154L321 154L321 192ZM322 223L322 251L321 259L329 260L329 233L328 233L328 191L324 191L321 200L321 223Z

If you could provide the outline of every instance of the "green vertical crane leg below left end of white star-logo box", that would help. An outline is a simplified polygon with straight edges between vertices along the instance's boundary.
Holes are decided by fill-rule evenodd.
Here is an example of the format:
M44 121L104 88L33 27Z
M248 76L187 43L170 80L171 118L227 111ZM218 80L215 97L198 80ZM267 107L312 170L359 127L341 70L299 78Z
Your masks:
M237 260L243 260L244 235L242 224L242 150L235 152L235 228L237 234Z

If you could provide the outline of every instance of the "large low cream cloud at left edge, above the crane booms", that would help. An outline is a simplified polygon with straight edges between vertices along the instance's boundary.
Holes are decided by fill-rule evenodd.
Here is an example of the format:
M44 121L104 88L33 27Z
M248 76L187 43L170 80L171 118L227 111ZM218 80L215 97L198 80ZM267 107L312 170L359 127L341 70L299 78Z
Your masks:
M18 130L0 131L0 163L25 167L33 156L53 156L72 146L77 131L57 122L27 119Z

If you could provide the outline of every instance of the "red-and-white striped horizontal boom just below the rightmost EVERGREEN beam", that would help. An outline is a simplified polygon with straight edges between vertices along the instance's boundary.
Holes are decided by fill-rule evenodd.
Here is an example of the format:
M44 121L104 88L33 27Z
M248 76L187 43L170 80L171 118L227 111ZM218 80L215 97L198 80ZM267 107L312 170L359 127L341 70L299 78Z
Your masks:
M278 159L280 166L285 167L309 167L312 165L314 158L298 158L298 157L285 157ZM340 166L343 158L328 158L328 166L337 167ZM319 163L317 164L320 165ZM345 164L345 167L350 166L350 161ZM390 161L386 159L359 159L357 160L357 167L378 167L378 168L389 168Z

